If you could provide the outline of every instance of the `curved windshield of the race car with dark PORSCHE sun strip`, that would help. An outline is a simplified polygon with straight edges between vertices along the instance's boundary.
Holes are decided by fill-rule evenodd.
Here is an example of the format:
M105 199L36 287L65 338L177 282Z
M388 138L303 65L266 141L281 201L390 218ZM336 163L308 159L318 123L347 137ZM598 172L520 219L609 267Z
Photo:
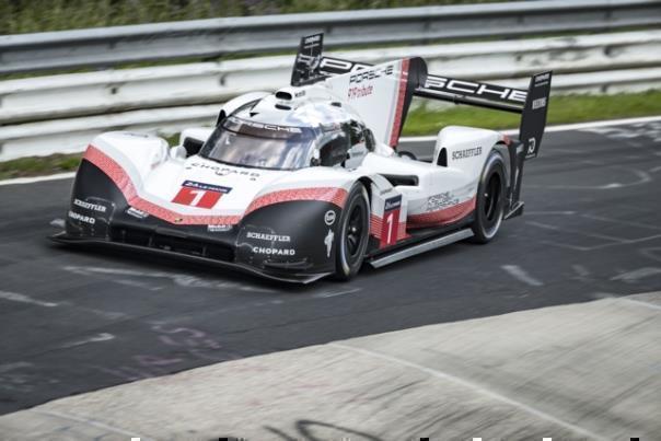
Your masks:
M295 170L309 164L315 140L310 127L278 126L228 117L200 150L200 156L231 165Z

